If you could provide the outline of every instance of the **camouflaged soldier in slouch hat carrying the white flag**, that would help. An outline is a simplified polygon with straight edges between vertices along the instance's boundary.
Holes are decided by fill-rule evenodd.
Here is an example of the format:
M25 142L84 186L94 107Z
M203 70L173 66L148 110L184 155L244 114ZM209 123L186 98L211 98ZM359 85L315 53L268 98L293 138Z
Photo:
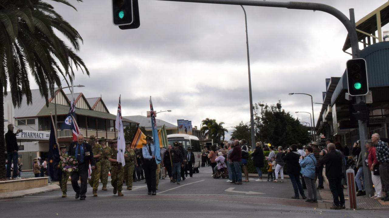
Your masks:
M108 156L108 160L111 162L111 185L114 188L114 194L117 192L117 196L123 196L121 190L123 187L124 167L117 162L117 153L119 153L117 151L117 140L113 140L111 154Z

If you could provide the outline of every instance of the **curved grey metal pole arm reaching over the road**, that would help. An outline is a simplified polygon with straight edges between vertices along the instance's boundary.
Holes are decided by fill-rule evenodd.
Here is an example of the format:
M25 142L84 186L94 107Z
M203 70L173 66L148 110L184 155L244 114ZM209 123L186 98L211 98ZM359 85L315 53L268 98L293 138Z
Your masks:
M319 10L326 12L338 18L345 26L349 33L352 58L359 57L358 37L354 24L345 16L340 10L326 4L312 3L312 2L269 2L269 1L254 1L254 0L158 0L170 2L194 2L194 3L211 3L224 5L249 5L262 7L280 7L287 9L301 9L301 10ZM354 21L353 21L354 22Z

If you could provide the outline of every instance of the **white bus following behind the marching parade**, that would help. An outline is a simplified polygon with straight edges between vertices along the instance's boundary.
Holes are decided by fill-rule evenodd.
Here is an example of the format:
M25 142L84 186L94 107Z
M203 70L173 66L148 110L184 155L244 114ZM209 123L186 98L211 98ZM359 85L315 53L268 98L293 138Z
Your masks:
M193 166L193 173L198 173L199 168L201 166L201 147L198 138L193 135L187 135L187 134L170 134L167 135L167 137L168 137L168 144L172 145L172 147L173 147L173 142L175 141L184 145L183 147L185 150L188 147L191 147L192 152L195 155L195 165Z

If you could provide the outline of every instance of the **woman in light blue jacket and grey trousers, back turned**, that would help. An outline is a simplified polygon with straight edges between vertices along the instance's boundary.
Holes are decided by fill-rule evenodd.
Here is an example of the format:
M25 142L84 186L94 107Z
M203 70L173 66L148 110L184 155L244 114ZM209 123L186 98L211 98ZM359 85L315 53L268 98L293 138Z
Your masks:
M316 196L316 184L315 184L315 171L316 171L316 158L313 153L312 147L307 147L305 150L305 157L300 156L300 173L303 175L305 184L308 189L308 199L306 202L317 202Z

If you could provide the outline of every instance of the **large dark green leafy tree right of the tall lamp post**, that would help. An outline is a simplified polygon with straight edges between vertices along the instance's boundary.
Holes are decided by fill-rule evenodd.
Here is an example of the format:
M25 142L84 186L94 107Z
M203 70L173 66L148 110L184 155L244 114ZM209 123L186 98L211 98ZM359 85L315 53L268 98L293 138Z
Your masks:
M299 119L282 109L281 101L275 105L259 102L254 105L256 137L273 146L287 147L294 143L307 144L310 134Z

